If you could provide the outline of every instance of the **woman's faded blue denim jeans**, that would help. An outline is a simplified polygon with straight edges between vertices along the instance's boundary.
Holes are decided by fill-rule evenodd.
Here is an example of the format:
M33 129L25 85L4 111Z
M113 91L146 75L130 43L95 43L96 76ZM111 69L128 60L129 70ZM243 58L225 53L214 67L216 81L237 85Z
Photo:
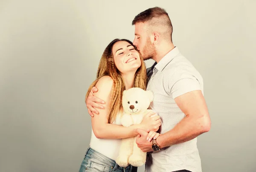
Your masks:
M79 172L137 172L137 167L121 167L116 161L88 148L81 163Z

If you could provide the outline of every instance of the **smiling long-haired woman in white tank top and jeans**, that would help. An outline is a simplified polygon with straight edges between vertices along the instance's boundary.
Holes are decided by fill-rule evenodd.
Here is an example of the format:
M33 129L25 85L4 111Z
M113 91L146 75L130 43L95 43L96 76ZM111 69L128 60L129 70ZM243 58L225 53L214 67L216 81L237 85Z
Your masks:
M105 108L92 119L90 147L85 153L79 172L131 172L133 166L120 167L116 164L122 138L134 137L136 128L147 130L161 125L159 116L147 114L141 124L123 127L121 125L122 92L131 87L146 89L146 69L143 59L127 39L114 39L105 48L99 62L97 79L90 85L99 88L95 96L105 101ZM151 135L158 137L158 133ZM133 171L137 171L136 169Z

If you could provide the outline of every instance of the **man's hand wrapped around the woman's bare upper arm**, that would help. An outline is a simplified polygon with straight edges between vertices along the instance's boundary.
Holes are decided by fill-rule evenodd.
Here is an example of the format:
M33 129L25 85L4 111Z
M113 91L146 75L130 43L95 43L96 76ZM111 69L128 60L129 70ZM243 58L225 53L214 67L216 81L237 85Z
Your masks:
M95 107L104 109L104 107L100 104L105 104L105 102L102 99L99 99L98 97L93 95L93 93L97 91L98 91L97 87L92 87L92 89L90 90L89 96L87 97L87 99L85 99L88 113L90 114L91 117L94 116L93 113L99 114L99 112L95 109Z

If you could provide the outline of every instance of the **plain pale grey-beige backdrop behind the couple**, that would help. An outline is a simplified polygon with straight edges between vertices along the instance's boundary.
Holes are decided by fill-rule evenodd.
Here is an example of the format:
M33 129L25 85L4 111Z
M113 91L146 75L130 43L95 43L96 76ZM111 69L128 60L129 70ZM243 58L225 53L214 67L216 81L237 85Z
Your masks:
M255 0L0 0L0 172L79 171L99 59L113 39L132 41L132 20L154 6L204 78L203 172L256 171Z

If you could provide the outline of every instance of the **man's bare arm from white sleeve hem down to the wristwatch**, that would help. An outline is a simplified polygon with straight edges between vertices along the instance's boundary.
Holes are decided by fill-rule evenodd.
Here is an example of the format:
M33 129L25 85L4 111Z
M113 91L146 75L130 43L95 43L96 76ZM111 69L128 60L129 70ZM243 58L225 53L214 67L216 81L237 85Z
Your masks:
M201 90L193 90L177 96L175 102L186 116L172 130L157 138L160 148L192 140L211 128L207 105Z

